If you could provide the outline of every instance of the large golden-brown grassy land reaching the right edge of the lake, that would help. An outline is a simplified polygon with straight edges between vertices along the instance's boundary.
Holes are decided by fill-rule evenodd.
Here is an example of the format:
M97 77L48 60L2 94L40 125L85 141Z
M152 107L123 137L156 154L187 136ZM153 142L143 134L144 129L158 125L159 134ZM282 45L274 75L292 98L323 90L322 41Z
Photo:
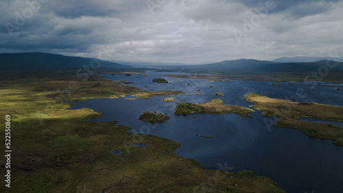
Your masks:
M257 93L244 96L253 108L263 111L267 117L279 117L274 126L295 128L305 134L319 139L332 139L334 144L343 146L343 128L320 122L299 121L300 117L311 117L317 120L343 122L343 106L330 106L313 102L291 102L284 99L268 98ZM268 122L267 122L268 124Z

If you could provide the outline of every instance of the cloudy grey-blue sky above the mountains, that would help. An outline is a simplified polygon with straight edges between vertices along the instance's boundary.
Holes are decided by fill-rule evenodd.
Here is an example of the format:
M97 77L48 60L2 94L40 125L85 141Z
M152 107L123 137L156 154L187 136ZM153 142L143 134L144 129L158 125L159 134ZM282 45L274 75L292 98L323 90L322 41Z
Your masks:
M343 56L343 0L0 0L0 52L212 63Z

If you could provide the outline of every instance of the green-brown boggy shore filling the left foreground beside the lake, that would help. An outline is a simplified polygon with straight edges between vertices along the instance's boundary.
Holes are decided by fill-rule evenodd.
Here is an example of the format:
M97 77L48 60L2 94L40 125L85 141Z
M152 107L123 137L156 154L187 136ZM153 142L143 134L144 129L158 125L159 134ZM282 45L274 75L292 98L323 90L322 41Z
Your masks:
M204 170L198 161L176 156L175 141L133 135L117 122L89 122L84 119L99 113L68 110L69 104L60 102L141 93L137 88L97 76L82 82L65 72L2 77L0 117L12 118L12 166L11 188L2 186L0 192L283 192L265 177ZM69 87L71 81L78 87ZM1 174L4 164L1 159Z

